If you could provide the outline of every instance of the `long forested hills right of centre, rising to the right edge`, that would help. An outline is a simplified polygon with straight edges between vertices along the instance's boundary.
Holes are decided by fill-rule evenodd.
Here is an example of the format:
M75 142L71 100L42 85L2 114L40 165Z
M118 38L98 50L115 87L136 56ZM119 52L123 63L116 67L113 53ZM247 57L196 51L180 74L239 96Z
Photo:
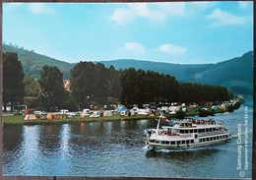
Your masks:
M101 61L116 69L134 67L176 77L179 82L221 85L236 93L253 92L253 51L217 64L171 64L131 59Z

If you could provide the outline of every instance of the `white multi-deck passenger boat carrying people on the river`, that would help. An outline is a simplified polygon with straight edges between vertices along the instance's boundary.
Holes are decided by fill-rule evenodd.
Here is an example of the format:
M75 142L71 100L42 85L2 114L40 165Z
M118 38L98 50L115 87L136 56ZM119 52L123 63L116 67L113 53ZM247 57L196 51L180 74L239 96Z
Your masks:
M188 149L222 144L231 139L224 124L216 124L208 120L182 120L174 122L173 126L162 126L160 121L155 130L147 131L147 144L151 150Z

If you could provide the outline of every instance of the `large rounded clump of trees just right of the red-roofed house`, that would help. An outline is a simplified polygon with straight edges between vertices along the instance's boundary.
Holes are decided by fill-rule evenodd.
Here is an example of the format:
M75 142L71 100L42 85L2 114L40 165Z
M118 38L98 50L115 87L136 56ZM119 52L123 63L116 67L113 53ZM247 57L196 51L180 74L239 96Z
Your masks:
M120 97L119 73L113 66L80 62L70 71L71 94L83 108L91 102L113 103Z

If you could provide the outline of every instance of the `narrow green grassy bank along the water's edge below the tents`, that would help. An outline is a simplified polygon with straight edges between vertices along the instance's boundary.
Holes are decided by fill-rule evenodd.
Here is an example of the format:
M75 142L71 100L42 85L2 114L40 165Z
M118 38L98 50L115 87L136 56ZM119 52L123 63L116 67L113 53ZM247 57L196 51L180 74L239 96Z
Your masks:
M239 100L238 105L234 108L226 108L226 109L211 109L210 106L201 107L208 108L208 110L188 110L187 112L183 112L183 117L178 117L178 113L176 114L164 114L168 119L178 118L183 119L187 116L200 116L200 117L208 117L214 116L216 113L224 113L224 112L232 112L234 109L238 109L240 104L242 104L244 100ZM206 113L204 113L205 111ZM203 112L203 113L202 113ZM126 121L126 120L143 120L143 119L153 119L155 120L158 115L135 115L135 116L121 116L120 113L113 114L112 116L108 117L86 117L81 118L77 115L75 118L66 118L63 115L60 115L59 119L36 119L36 120L24 120L25 115L13 115L13 114L6 114L4 113L2 116L3 125L41 125L41 124L56 124L56 123L63 123L63 124L70 124L70 123L85 123L85 122L102 122L102 121Z

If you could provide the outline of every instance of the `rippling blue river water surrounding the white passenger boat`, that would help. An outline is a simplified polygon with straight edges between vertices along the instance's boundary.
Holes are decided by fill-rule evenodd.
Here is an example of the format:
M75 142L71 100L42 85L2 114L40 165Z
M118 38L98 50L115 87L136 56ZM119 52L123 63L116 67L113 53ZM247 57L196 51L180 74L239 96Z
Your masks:
M3 172L47 176L251 178L252 105L252 99L246 99L238 110L213 117L218 123L224 121L233 135L230 142L191 150L147 150L144 129L156 128L155 120L4 126ZM244 124L246 114L248 124ZM237 135L238 124L241 124L241 136Z

